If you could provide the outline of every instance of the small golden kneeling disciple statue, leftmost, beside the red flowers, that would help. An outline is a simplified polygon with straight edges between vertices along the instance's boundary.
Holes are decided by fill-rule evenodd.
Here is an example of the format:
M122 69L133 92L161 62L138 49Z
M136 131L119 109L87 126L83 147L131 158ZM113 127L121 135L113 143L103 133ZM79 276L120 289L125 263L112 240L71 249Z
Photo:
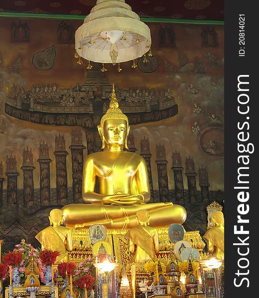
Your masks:
M60 255L56 263L68 262L67 251L72 251L72 235L68 227L61 226L63 213L60 209L52 209L49 213L50 226L40 231L35 238L41 243L41 249L58 250Z

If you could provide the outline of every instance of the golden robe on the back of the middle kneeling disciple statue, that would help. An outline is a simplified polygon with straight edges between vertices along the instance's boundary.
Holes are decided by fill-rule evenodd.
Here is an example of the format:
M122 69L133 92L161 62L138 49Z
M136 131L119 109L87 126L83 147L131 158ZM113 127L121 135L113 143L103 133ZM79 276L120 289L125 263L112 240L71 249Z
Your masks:
M143 249L152 260L156 259L153 236L144 226L132 227L128 230L125 237Z

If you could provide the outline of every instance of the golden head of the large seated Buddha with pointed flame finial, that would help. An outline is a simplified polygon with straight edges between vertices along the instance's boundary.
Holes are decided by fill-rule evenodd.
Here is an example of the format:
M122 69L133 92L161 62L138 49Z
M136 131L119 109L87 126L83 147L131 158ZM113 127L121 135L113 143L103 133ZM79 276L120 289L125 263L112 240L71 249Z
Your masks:
M113 85L112 99L109 109L102 117L98 131L102 140L102 149L106 145L128 148L127 139L129 136L129 119L119 108Z

